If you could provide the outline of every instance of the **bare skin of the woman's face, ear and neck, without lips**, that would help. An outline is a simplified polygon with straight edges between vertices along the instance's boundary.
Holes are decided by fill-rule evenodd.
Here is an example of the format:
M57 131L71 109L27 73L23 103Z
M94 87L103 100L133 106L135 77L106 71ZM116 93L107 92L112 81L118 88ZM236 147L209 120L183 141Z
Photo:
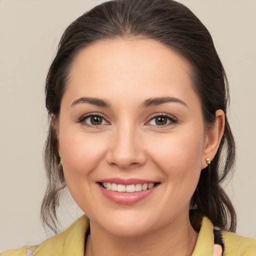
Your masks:
M183 103L141 106L166 96ZM104 99L111 107L73 103L81 97ZM102 115L102 123L82 119L89 113ZM172 119L157 125L155 116L162 114ZM214 127L206 128L184 58L146 39L98 41L84 48L52 125L67 187L90 219L85 255L191 255L197 233L189 222L189 200L205 158L216 153L224 114L217 110ZM120 204L96 183L113 177L160 184L146 198Z

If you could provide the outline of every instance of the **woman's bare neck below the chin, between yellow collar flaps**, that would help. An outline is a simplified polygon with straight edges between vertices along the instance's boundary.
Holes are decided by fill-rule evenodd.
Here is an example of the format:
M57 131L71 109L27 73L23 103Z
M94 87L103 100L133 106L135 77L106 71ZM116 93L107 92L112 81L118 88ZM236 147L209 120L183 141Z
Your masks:
M86 242L85 256L190 256L193 252L197 232L189 218L171 223L146 234L119 237L90 222L91 233Z

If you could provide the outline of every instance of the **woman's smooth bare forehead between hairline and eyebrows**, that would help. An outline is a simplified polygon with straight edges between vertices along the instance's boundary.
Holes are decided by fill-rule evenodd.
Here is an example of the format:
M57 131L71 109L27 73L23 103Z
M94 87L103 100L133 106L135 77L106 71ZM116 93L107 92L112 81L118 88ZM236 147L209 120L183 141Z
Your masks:
M185 58L155 40L98 41L76 56L64 94L123 100L180 97L193 92L190 70Z

